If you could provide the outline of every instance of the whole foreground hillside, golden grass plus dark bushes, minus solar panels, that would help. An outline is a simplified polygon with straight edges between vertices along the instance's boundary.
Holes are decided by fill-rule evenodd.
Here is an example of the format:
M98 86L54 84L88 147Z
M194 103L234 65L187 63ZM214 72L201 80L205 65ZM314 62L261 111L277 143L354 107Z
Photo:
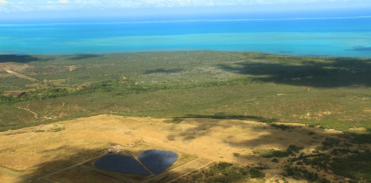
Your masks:
M99 115L11 132L0 132L1 168L52 182L371 181L367 166L349 166L369 163L370 144L303 124ZM155 176L95 167L113 148L121 148L114 154L123 156L170 150L178 158Z

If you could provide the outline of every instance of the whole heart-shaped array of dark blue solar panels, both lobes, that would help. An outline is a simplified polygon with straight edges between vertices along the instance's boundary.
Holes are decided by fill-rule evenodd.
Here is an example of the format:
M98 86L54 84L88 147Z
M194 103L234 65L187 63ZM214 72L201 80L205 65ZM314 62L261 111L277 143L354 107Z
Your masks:
M177 157L177 153L153 149L139 154L138 160L153 174L158 174L171 166L175 160L177 160ZM98 168L113 172L151 175L141 163L134 157L110 154L96 160L94 165Z

